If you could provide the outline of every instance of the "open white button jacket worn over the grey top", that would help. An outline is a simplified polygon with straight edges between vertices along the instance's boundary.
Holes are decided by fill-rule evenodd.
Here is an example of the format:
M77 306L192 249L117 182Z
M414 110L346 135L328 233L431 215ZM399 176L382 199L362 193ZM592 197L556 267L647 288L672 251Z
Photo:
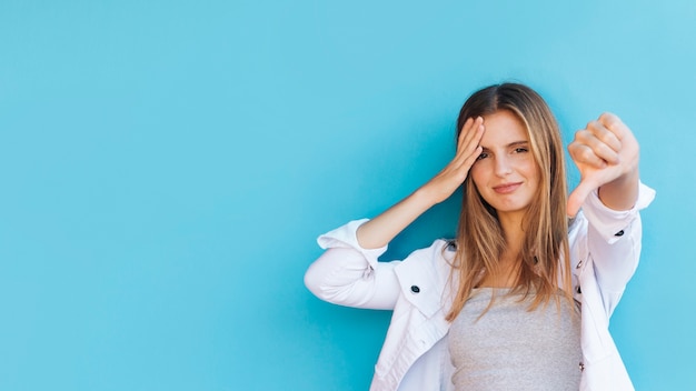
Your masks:
M640 217L655 192L640 184L628 211L606 208L597 193L588 197L569 229L575 299L581 303L584 365L580 391L634 390L609 334L609 318L638 265ZM447 349L453 290L448 285L448 241L417 250L402 261L378 262L386 247L362 249L351 221L319 237L328 249L305 275L307 288L331 303L394 310L370 390L453 390Z

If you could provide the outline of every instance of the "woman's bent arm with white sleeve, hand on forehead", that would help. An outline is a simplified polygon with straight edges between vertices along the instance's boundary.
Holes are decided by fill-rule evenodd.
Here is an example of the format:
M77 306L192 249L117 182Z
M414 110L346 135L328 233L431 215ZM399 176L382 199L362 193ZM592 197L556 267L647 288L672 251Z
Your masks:
M455 158L406 199L372 220L354 221L319 237L327 251L307 270L305 284L318 298L342 305L392 309L399 294L397 262L377 262L387 244L434 204L461 186L480 154L484 119L465 122Z

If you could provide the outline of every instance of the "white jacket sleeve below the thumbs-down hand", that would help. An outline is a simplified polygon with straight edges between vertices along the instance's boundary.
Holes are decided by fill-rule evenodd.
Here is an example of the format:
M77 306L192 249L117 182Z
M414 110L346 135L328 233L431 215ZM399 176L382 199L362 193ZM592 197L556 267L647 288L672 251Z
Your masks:
M615 211L601 203L595 191L583 205L587 218L587 250L607 315L638 267L642 223L639 211L655 198L655 191L640 183L635 205Z

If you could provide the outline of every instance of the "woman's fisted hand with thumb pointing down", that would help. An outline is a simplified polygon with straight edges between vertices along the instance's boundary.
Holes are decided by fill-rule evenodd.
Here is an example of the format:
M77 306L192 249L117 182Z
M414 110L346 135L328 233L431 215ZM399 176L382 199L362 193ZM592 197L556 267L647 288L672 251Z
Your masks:
M580 171L580 183L568 197L568 215L579 211L595 189L614 210L630 209L638 194L638 141L612 113L604 113L575 133L568 152Z

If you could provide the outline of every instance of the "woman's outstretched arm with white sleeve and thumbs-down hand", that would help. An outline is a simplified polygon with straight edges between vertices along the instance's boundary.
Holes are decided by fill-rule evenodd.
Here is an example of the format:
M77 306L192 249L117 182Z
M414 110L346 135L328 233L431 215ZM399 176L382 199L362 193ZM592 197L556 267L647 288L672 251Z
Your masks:
M639 183L638 142L614 114L605 113L578 131L568 150L581 176L568 198L568 214L581 205L587 217L587 250L610 314L638 265L638 212L654 191Z

